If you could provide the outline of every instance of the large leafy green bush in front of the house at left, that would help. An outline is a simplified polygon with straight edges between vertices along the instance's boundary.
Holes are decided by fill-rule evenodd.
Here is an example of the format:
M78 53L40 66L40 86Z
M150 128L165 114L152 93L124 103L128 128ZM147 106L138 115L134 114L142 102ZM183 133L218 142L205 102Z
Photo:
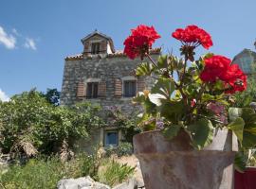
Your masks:
M99 110L89 103L54 106L35 90L16 94L0 102L0 147L27 156L72 148L74 140L89 138L92 129L101 127Z

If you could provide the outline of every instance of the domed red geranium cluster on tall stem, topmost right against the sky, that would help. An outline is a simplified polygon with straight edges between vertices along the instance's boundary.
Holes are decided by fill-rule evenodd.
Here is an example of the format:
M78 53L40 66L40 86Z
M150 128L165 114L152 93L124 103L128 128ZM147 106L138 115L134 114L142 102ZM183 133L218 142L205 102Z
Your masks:
M185 29L176 29L172 36L183 43L192 43L189 44L192 46L202 44L202 46L206 49L209 49L213 44L208 32L202 28L199 28L198 26L193 25L187 26Z

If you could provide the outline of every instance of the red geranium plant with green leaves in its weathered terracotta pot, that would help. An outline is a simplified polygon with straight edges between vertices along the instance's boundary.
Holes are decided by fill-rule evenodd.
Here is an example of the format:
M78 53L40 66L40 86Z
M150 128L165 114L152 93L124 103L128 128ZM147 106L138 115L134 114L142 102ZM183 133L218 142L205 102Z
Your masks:
M256 113L233 107L233 94L247 89L247 76L224 56L207 53L195 60L197 47L212 45L204 29L178 28L173 37L181 43L182 58L151 58L160 38L153 26L137 26L124 42L124 53L142 60L137 77L155 78L150 91L134 98L144 107L139 122L144 132L134 137L134 149L145 187L232 188L238 145L256 144Z

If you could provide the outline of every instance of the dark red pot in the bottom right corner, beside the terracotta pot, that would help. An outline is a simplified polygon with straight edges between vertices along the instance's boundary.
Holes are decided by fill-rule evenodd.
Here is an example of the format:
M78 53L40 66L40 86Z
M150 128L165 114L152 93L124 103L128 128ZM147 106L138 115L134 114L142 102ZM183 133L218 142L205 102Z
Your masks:
M247 167L245 173L235 171L235 189L256 188L256 167Z

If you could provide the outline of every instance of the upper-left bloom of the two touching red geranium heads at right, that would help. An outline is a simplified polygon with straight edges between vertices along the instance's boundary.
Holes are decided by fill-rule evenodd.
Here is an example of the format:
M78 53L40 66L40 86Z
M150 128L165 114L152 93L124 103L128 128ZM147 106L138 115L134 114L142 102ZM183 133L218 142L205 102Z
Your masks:
M216 79L225 76L231 63L231 60L219 55L212 56L204 61L205 68L200 74L200 78L204 82L215 82Z

